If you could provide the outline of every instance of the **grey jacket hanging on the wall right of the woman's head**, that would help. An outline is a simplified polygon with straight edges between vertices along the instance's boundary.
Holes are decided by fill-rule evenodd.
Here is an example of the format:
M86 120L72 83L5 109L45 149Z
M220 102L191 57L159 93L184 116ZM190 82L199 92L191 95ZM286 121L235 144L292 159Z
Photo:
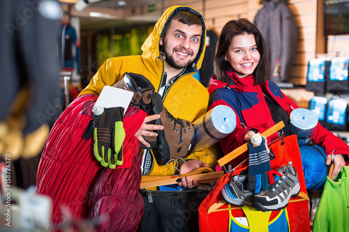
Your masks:
M292 12L284 0L265 1L253 20L269 47L272 70L279 60L279 77L273 82L287 82L290 79L293 62L297 53L299 30Z

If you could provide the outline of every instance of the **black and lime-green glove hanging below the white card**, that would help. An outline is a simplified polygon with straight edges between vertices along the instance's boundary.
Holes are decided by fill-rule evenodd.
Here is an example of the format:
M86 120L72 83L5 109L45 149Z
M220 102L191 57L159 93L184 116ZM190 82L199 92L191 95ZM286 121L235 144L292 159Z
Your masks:
M104 108L100 115L96 115L95 111L94 156L103 167L115 169L124 161L122 156L122 144L125 139L123 120L124 107Z

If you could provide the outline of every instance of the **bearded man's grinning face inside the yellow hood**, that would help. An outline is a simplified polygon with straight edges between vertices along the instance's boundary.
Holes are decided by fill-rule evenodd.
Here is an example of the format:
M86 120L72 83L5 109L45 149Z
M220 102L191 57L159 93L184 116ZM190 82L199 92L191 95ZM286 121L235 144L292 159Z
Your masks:
M185 68L193 63L200 49L202 26L188 26L172 20L165 35L160 39L161 52L165 53L166 65L172 68Z

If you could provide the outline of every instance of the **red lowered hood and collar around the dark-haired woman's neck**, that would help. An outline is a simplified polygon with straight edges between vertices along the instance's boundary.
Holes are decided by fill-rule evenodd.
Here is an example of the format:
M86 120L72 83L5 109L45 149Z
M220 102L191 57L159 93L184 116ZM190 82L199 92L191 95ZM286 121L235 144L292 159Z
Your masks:
M253 75L248 75L244 78L239 78L235 74L235 72L228 72L227 73L229 78L229 82L221 82L218 81L216 76L213 76L211 78L211 81L209 82L209 94L213 93L217 88L232 88L235 91L238 91L239 93L242 93L245 88L248 88L248 86L253 85L254 77Z

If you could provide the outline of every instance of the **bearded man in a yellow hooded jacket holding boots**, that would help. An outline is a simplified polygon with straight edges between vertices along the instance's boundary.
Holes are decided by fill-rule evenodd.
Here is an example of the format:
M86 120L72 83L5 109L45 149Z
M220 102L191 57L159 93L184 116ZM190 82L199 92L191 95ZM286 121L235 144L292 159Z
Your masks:
M104 86L119 82L125 72L144 75L155 91L163 98L164 107L175 117L195 121L207 112L209 94L193 75L201 67L205 53L206 28L202 15L187 6L172 6L158 20L142 45L140 56L121 56L108 59L81 94L100 94ZM147 116L135 134L144 146L143 136L156 137L153 130L163 130L161 125L147 124L160 115ZM214 164L213 148L191 153L180 165L181 174ZM173 175L174 166L158 165L151 149L144 149L142 175ZM179 186L198 187L198 181L182 178Z

